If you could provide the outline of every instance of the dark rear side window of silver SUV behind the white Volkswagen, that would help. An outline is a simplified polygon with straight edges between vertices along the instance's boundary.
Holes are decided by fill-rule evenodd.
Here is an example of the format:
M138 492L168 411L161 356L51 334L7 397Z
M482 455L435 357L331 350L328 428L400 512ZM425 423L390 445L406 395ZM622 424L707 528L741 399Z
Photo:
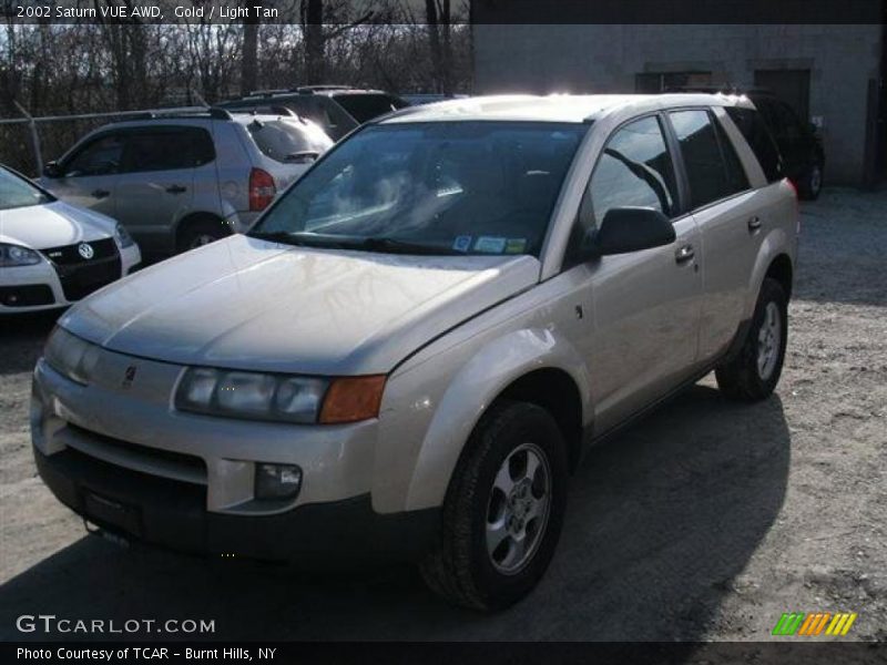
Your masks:
M159 127L126 137L123 164L128 173L194 168L215 158L213 140L200 127Z

